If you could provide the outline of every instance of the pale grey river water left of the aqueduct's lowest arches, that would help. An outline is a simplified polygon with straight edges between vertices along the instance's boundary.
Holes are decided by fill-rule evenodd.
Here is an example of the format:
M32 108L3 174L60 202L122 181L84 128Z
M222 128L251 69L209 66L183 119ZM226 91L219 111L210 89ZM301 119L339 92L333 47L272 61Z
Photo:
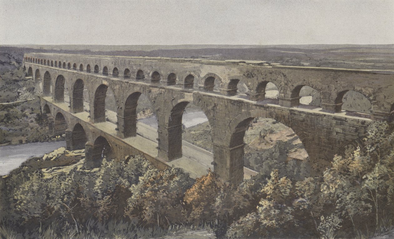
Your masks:
M2 146L0 147L0 175L7 175L14 168L18 168L26 159L42 157L45 153L50 153L65 146L66 141Z

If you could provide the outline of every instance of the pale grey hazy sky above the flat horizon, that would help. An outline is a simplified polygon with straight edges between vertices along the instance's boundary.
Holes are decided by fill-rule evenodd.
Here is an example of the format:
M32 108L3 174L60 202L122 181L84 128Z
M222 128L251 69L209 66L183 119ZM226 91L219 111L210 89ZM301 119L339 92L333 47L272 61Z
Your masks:
M0 44L394 44L394 0L0 0Z

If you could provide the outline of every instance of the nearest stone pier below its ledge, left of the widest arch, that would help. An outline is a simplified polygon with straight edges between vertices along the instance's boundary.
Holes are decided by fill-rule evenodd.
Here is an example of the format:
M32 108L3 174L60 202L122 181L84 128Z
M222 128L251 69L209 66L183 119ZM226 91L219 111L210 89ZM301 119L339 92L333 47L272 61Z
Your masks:
M214 171L224 180L241 182L243 180L243 147L227 147L214 144Z

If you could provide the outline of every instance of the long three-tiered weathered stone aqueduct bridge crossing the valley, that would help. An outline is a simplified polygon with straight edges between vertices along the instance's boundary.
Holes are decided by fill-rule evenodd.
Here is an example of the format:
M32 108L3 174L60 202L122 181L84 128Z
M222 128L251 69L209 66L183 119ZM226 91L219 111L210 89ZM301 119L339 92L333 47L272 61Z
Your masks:
M394 71L271 66L256 61L112 57L28 53L24 67L37 82L42 109L50 110L51 130L65 130L67 148L85 148L86 167L96 167L104 151L117 156L144 153L156 165L182 157L182 113L199 106L212 129L214 171L223 179L243 179L243 136L255 117L273 118L292 128L309 154L312 168L327 165L342 147L358 142L374 120L392 120ZM239 82L248 91L237 93ZM277 99L266 99L272 82ZM321 107L303 106L299 92L310 86ZM87 89L89 100L84 100ZM105 98L112 89L116 124L106 121ZM68 89L70 102L64 102ZM349 91L367 97L370 114L341 109ZM136 107L149 97L158 121L157 147L145 149L137 135ZM89 112L84 112L84 101Z

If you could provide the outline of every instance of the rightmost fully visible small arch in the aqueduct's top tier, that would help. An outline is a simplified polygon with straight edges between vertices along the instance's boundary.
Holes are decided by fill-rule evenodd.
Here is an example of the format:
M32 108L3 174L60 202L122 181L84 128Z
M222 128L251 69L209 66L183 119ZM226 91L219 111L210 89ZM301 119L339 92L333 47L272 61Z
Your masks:
M359 100L356 100L357 97ZM349 98L345 100L346 98ZM356 99L354 99L356 98ZM345 100L345 102L344 102ZM347 102L349 101L349 102ZM353 102L351 102L353 101ZM359 105L361 101L365 104L364 107ZM370 114L372 109L372 100L369 96L364 95L363 93L355 90L342 90L336 94L335 101L336 104L336 112L340 112L342 109L347 111L359 112L359 113L366 113Z

